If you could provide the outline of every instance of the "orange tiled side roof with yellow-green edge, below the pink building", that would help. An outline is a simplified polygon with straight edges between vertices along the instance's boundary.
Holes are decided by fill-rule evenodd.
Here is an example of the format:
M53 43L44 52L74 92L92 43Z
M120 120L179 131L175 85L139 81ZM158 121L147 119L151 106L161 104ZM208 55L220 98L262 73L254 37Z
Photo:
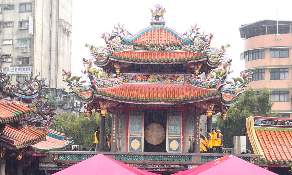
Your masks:
M287 166L292 162L292 119L249 116L247 136L260 164ZM275 164L275 165L273 165Z

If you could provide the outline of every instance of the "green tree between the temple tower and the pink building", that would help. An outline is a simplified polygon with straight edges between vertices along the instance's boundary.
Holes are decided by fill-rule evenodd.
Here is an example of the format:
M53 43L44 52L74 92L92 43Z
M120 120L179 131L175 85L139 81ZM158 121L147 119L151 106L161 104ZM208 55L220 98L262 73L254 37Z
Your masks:
M279 113L271 113L273 102L270 101L270 91L254 91L249 88L239 97L239 102L229 108L227 118L217 115L216 125L224 135L223 147L233 147L233 136L244 134L246 118L250 115L264 117L280 117Z

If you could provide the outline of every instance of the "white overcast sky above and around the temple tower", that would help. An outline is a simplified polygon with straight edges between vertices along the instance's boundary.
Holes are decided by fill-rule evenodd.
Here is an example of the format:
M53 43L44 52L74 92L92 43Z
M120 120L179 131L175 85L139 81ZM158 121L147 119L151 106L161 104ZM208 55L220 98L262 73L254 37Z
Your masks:
M240 61L244 40L240 38L239 27L264 19L292 20L292 0L286 1L162 1L162 0L127 0L127 1L73 1L73 32L72 32L72 72L80 75L84 69L82 58L91 58L85 44L95 47L105 46L100 37L103 32L111 33L118 22L132 34L150 25L151 13L149 8L160 4L166 8L164 19L166 26L182 33L190 29L190 24L212 33L211 46L220 48L230 44L227 49L228 57L232 59L234 73L231 77L239 76L244 70L244 61ZM82 74L82 73L81 73Z

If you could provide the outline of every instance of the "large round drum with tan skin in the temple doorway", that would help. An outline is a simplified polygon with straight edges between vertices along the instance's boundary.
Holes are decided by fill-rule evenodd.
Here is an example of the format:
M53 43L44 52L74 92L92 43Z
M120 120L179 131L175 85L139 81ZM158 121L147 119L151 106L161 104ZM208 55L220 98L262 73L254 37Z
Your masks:
M145 127L144 137L152 145L158 145L165 139L164 127L158 123L151 123Z

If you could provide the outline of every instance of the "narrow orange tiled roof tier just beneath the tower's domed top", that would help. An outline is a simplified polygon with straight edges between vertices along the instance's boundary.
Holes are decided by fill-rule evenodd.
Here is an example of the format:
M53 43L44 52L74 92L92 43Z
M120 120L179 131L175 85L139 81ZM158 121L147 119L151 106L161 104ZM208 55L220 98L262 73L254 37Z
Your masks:
M178 62L188 61L190 59L202 59L204 56L202 53L195 53L190 50L175 52L124 50L121 52L114 52L113 58L139 62Z

